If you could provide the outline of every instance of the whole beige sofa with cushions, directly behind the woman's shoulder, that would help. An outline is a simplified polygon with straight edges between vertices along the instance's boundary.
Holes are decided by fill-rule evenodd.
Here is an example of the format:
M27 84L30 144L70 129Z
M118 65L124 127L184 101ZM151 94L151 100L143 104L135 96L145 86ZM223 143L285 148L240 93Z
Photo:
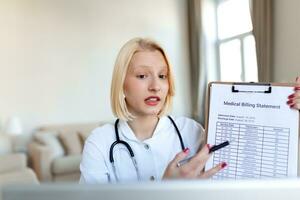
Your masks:
M85 139L103 123L39 128L28 146L32 168L41 182L77 182Z

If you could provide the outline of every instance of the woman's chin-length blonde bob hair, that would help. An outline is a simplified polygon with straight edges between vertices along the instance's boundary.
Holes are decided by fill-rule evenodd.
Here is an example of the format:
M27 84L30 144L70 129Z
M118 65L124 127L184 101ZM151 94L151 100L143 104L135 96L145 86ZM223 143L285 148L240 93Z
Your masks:
M168 67L168 83L169 91L162 110L159 112L159 117L167 114L172 106L173 96L175 94L174 75L169 59L163 48L154 40L146 38L133 38L129 40L120 50L112 76L111 82L111 107L114 115L122 120L128 121L135 118L127 109L124 96L124 80L127 74L129 63L132 56L138 51L155 51L162 53Z

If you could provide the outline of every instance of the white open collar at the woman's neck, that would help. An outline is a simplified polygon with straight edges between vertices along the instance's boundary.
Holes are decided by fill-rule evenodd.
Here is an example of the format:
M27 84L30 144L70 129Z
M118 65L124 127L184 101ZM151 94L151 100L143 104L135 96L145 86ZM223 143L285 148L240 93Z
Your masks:
M148 140L153 139L154 137L156 137L157 135L161 134L162 130L166 129L169 127L170 125L170 120L168 119L168 117L166 116L162 116L157 125L156 128L154 130L154 133L152 135L151 138L144 140L143 142L146 142ZM132 141L136 141L136 142L141 142L139 139L137 139L137 137L135 136L134 132L132 131L132 129L130 128L130 126L128 125L128 123L124 120L120 120L119 122L119 132L120 135L122 135L123 137L125 137L127 140L132 140Z

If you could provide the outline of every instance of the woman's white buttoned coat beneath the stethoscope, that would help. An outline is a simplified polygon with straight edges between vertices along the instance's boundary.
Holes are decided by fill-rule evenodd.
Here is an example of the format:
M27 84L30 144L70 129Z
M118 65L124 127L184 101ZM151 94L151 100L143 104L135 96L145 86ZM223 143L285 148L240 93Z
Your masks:
M194 155L200 146L204 134L202 126L186 117L172 117L181 133L185 147ZM140 141L126 121L118 125L120 139L131 146L143 181L160 180L163 173L182 151L176 130L168 117L161 117L151 138ZM80 163L80 183L115 182L112 165L109 161L109 149L116 141L114 124L106 124L92 131L87 138ZM116 172L120 181L136 181L137 174L129 152L122 144L114 148Z

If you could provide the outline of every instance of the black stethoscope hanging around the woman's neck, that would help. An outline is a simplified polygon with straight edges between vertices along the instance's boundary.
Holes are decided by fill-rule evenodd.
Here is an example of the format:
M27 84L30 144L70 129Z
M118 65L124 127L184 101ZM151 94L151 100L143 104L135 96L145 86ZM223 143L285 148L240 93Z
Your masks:
M184 143L183 143L183 140L182 140L182 137L181 137L181 134L179 132L179 129L178 127L176 126L174 120L168 116L168 118L170 119L170 121L172 122L175 130L176 130L176 133L178 135L178 138L179 138L179 141L180 141L180 145L181 145L181 149L182 151L185 149L184 147ZM137 175L137 178L138 180L141 180L141 174L139 172L139 168L138 168L138 164L136 162L136 159L135 159L135 156L134 156L134 153L132 151L132 148L130 147L130 145L125 142L124 140L121 140L120 139L120 136L119 136L119 131L118 131L118 124L119 124L119 119L117 119L115 121L115 134L116 134L116 141L112 143L112 145L110 146L110 149L109 149L109 161L112 165L112 169L113 169L113 173L114 173L114 176L116 178L116 181L119 182L119 177L117 176L117 170L116 170L116 166L115 166L115 162L114 162L114 154L113 154L113 150L114 150L114 147L118 144L122 144L126 147L126 149L128 150L129 154L130 154L130 157L131 157L131 161L133 163L133 166L135 168L135 172L136 172L136 175ZM109 178L110 179L110 178ZM110 181L110 180L109 180Z

